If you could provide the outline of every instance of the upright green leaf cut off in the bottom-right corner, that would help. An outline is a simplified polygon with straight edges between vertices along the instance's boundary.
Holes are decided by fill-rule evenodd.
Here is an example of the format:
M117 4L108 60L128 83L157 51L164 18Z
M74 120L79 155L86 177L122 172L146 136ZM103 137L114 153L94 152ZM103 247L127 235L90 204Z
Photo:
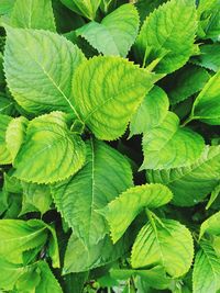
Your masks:
M193 272L194 293L216 293L220 289L220 259L208 241L200 243Z

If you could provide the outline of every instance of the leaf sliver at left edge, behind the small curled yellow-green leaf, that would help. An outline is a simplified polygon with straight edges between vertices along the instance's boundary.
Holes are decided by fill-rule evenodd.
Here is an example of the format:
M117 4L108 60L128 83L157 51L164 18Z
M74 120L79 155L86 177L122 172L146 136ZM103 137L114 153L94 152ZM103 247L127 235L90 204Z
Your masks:
M6 142L7 127L11 121L10 116L0 114L0 165L11 164L12 161Z

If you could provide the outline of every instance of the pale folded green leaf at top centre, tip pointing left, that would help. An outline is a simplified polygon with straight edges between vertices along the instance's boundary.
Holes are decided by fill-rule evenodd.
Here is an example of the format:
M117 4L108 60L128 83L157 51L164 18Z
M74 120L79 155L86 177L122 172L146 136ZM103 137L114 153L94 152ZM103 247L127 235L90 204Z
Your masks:
M103 55L125 57L139 32L139 13L134 5L124 4L107 15L101 23L89 22L77 30L77 35Z

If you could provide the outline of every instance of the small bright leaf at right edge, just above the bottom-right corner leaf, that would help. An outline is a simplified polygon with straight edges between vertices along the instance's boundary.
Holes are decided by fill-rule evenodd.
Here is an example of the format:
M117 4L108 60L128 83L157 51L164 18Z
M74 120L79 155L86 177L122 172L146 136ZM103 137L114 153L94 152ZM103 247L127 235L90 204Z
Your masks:
M205 233L220 236L220 212L211 215L201 224L199 238L201 238Z

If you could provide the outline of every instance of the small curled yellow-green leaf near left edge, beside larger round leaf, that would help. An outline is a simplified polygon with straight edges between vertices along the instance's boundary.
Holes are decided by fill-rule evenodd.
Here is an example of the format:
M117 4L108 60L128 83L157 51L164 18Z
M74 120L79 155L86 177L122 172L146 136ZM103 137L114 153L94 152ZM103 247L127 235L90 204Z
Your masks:
M7 133L6 133L6 142L7 148L11 154L12 161L14 161L22 144L24 143L26 127L29 121L23 117L16 117L10 121Z

